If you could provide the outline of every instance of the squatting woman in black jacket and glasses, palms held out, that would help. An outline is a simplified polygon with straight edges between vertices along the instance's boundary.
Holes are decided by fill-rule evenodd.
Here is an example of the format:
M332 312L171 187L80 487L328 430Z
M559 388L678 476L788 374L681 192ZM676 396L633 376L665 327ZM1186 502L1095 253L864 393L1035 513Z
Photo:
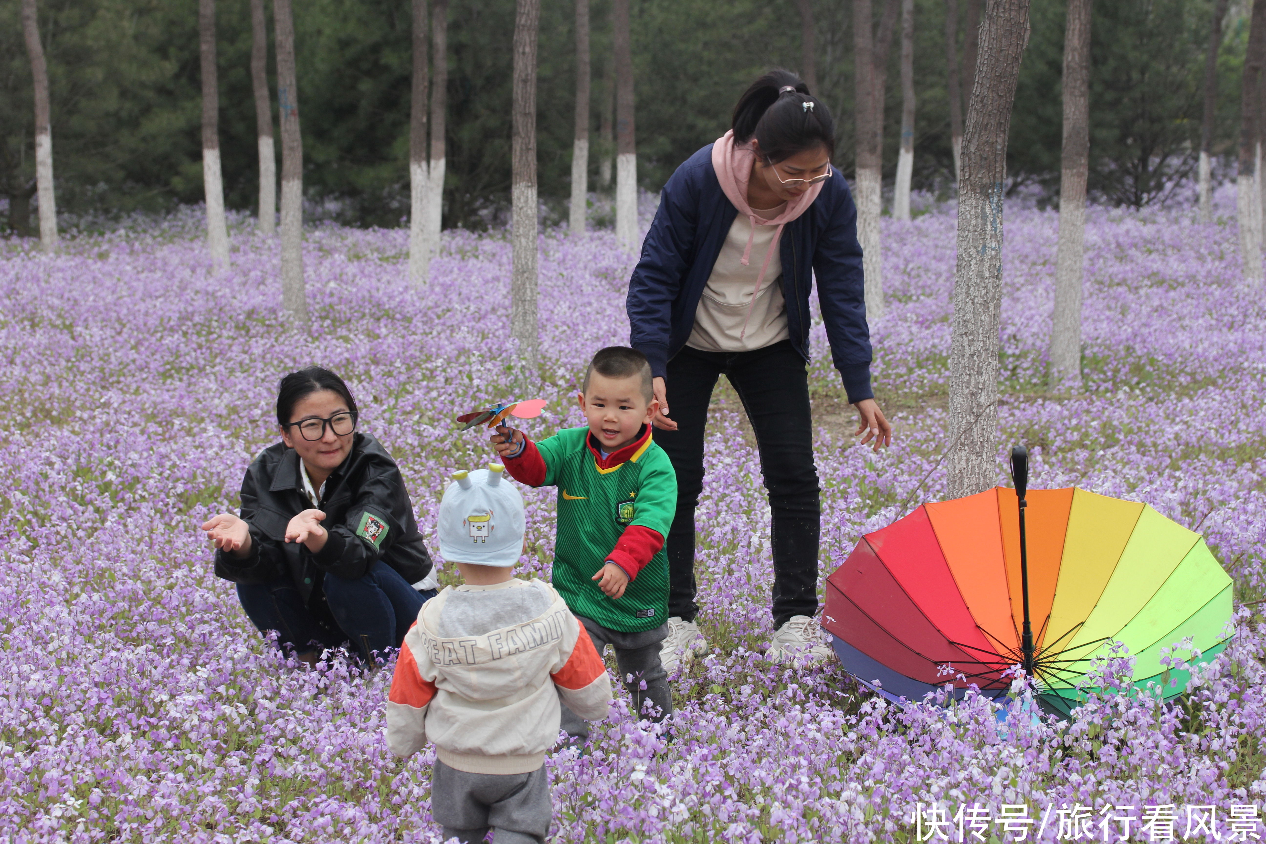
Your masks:
M281 442L242 481L242 515L213 516L215 574L237 583L261 631L304 662L351 642L399 648L436 595L430 555L386 449L356 430L356 401L329 369L291 372L277 390Z

